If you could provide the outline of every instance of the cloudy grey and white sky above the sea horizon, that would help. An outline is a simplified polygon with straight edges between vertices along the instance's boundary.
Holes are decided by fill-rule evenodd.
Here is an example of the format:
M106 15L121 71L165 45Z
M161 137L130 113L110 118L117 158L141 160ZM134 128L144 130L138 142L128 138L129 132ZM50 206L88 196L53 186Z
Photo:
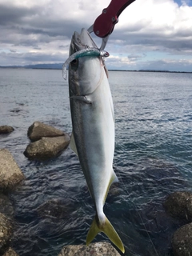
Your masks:
M65 62L74 31L88 29L109 4L0 0L0 66ZM192 72L192 0L136 0L119 16L105 50L108 69Z

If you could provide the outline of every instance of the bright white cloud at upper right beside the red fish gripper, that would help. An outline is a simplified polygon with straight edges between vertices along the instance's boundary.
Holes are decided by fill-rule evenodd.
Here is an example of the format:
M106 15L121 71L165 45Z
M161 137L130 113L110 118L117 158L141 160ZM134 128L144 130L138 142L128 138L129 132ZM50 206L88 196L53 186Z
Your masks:
M122 18L120 20L120 18ZM170 42L186 41L187 45L192 39L192 7L178 6L171 0L145 2L136 1L130 9L127 8L119 18L117 30L114 35L125 42L170 46ZM190 45L191 46L191 45Z

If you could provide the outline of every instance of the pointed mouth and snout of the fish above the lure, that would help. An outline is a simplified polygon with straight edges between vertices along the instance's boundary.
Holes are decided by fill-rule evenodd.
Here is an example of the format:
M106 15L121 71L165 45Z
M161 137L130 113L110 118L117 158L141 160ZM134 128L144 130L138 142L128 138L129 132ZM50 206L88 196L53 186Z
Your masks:
M89 47L98 49L98 46L91 38L90 33L86 29L82 29L80 34L75 31L70 43L70 55Z

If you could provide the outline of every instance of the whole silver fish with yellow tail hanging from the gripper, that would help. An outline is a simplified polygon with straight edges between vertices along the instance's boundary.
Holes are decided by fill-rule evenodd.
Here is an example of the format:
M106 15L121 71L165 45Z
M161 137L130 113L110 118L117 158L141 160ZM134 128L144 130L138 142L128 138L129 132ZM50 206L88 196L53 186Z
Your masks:
M98 50L86 29L80 34L74 32L70 55L83 49ZM114 106L102 57L84 54L82 58L73 59L69 64L68 79L73 128L70 148L78 156L96 210L86 245L103 232L124 253L121 238L103 212L110 186L118 182L118 178L113 169Z

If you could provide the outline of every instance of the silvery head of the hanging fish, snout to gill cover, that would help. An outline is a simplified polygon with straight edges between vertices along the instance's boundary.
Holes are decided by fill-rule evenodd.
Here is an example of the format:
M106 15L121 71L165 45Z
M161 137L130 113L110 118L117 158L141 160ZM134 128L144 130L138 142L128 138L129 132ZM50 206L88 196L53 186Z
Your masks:
M86 48L98 49L94 40L86 29L81 33L74 32L70 42L70 55ZM101 56L84 56L70 62L69 85L70 96L87 95L99 86L105 72Z

